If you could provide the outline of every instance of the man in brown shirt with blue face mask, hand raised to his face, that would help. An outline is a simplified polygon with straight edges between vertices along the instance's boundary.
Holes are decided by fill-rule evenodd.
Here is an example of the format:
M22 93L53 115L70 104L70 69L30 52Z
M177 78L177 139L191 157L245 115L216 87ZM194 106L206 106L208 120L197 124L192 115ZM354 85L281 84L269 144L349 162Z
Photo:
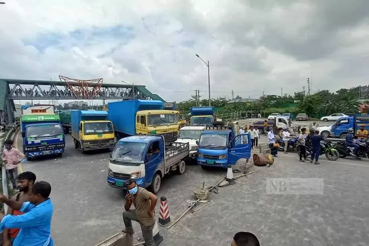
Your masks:
M133 234L132 220L137 221L141 226L145 244L147 246L154 246L154 212L158 197L146 189L138 187L134 179L128 179L126 185L128 192L126 195L125 210L123 211L123 220L126 229L122 230L122 232ZM132 203L135 209L130 209Z

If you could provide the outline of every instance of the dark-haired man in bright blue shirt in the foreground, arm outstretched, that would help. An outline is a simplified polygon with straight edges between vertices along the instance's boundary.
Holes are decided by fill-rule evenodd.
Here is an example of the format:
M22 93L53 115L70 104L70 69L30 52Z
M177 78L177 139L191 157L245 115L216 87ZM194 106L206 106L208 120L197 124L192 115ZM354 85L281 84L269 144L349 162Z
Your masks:
M21 228L13 246L53 246L51 238L51 217L54 205L49 195L51 185L48 182L36 182L30 192L29 202L17 202L0 194L0 201L14 210L25 214L13 216L0 213L0 232L4 228Z

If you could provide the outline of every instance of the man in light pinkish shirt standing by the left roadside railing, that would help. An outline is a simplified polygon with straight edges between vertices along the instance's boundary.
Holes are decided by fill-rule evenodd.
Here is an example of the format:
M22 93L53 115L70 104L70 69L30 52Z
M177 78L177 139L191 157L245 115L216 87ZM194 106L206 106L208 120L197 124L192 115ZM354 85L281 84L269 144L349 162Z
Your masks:
M5 169L7 170L8 180L13 184L13 189L16 189L16 178L18 176L18 164L24 159L24 154L13 148L13 141L7 140L4 143L5 150L3 151L3 161L5 163Z

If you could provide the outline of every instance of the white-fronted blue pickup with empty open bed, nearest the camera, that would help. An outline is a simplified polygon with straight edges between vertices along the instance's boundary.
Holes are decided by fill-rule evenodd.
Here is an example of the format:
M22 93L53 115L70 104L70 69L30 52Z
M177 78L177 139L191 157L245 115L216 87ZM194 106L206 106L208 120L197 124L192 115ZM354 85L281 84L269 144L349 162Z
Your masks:
M164 136L122 138L110 155L107 184L127 190L126 181L132 178L139 186L148 187L156 194L164 175L171 171L185 172L189 150L188 143L173 143L166 148Z

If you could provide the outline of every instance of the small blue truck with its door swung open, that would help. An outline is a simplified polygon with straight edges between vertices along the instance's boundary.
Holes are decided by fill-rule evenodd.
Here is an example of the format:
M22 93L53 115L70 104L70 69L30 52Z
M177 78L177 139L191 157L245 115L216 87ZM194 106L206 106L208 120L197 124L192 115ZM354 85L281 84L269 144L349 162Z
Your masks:
M251 157L251 136L244 133L235 136L237 129L207 127L198 142L197 164L202 168L234 165L240 158Z

